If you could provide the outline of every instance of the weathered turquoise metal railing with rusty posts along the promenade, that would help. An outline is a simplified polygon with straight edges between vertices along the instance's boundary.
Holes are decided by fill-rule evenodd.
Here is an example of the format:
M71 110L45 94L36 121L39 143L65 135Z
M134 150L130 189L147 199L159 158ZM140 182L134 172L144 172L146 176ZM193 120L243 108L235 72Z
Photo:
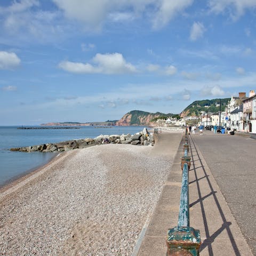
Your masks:
M188 133L186 129L181 157L182 185L178 226L167 231L167 256L197 256L201 245L200 231L189 227L189 181L190 157L188 156Z

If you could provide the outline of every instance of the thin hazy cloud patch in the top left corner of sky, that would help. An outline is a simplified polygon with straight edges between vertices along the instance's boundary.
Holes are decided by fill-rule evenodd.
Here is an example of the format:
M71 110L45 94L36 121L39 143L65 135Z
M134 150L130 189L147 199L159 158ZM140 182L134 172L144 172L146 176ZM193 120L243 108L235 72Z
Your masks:
M24 42L41 44L59 41L77 33L74 24L63 20L61 11L39 9L39 1L21 0L0 7L0 43L20 45Z

